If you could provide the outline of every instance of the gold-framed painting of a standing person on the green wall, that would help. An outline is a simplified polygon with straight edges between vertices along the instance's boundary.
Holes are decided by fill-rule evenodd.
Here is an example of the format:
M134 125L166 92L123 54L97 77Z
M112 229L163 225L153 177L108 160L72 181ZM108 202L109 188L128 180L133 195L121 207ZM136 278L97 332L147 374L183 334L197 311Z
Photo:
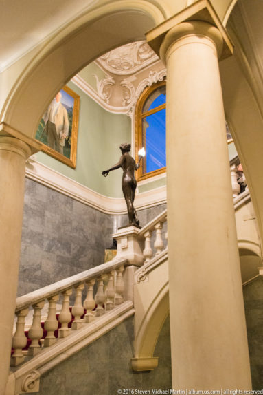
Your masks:
M36 131L36 140L43 143L41 151L76 167L78 114L80 96L65 86L47 107Z

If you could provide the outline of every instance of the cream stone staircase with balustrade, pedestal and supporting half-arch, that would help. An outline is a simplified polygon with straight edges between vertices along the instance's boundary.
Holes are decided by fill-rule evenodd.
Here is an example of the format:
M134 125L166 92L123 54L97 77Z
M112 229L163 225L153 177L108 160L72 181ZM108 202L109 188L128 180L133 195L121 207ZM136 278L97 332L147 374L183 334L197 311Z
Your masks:
M238 191L233 197L238 210L249 201L249 191ZM169 310L167 211L143 228L119 228L113 237L117 239L117 256L111 261L16 299L5 395L38 392L42 374L133 314L133 370L157 367L153 351ZM31 339L27 350L25 330Z

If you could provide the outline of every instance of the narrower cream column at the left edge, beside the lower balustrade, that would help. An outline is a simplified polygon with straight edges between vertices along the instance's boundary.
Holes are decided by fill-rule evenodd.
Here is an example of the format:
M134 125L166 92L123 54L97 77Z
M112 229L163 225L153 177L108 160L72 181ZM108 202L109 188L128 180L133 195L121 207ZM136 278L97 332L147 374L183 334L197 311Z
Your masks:
M0 394L5 394L19 272L25 160L32 153L18 138L0 136Z

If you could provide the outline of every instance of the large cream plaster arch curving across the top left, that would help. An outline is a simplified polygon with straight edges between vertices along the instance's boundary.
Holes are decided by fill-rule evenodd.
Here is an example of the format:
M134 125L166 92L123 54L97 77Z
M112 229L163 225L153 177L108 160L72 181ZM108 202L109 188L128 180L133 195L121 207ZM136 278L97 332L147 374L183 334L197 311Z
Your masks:
M27 64L3 105L1 122L34 138L47 105L67 81L105 52L145 39L144 34L163 20L160 8L148 1L122 0L73 21L37 54L26 56Z

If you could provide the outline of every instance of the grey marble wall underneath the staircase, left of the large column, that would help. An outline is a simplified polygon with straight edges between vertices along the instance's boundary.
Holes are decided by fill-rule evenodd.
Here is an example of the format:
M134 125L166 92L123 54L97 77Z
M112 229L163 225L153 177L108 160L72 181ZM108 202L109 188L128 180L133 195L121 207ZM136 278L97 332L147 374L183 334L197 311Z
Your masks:
M133 317L130 317L44 374L40 391L34 394L117 395L121 393L118 389L172 388L169 325L168 318L155 348L159 365L152 372L133 372L131 369Z

